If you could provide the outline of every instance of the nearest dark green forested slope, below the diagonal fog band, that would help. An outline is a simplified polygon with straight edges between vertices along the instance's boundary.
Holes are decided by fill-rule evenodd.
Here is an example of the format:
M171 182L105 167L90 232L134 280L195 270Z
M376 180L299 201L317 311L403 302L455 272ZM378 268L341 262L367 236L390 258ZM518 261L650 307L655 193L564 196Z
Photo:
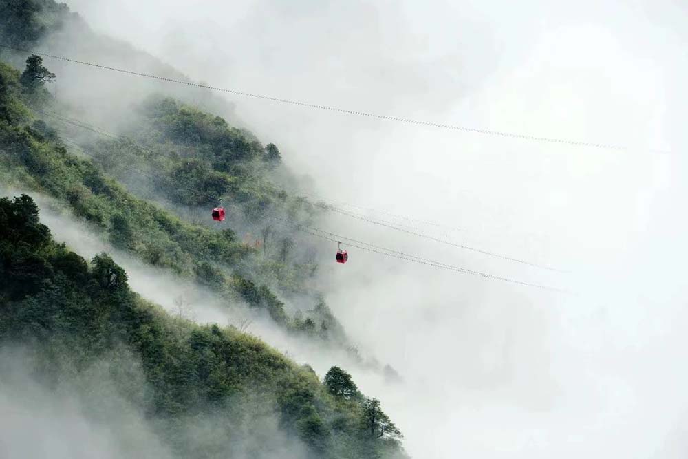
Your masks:
M48 386L109 359L120 396L177 456L231 456L233 429L260 428L257 412L274 413L310 457L399 451L394 424L345 372L333 368L323 385L258 339L170 317L131 292L106 254L87 263L55 244L27 195L0 199L0 260L0 345L32 346L33 370ZM140 385L127 374L131 360ZM212 435L195 435L213 423ZM250 442L248 457L279 456L271 445Z

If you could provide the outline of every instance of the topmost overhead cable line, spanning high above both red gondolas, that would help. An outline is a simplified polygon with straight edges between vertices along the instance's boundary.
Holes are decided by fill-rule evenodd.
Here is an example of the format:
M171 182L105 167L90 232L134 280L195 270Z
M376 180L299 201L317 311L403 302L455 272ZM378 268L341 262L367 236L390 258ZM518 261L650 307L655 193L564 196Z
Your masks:
M504 138L518 138L518 139L523 139L523 140L532 140L535 142L549 142L549 143L557 143L560 145L573 145L576 147L590 147L590 148L609 149L609 150L622 150L622 151L631 150L630 147L626 147L624 145L615 145L615 144L610 144L610 143L584 142L581 140L569 140L569 139L544 137L544 136L531 136L529 134L515 134L512 132L494 131L491 129L477 129L477 128L472 128L472 127L458 126L458 125L449 125L449 124L444 124L441 122L431 122L431 121L424 121L424 120L416 120L413 118L403 118L400 116L388 116L388 115L382 115L382 114L375 114L375 113L372 113L369 111L345 109L345 108L341 108L341 107L334 107L332 105L321 105L321 104L316 104L316 103L308 103L308 102L303 102L301 100L279 98L279 97L275 97L275 96L268 96L266 94L255 94L255 93L250 93L250 92L239 91L237 89L226 89L226 88L222 88L222 87L203 85L201 83L193 83L191 81L184 81L184 80L180 80L178 78L168 78L168 77L160 76L160 75L147 74L147 73L143 73L143 72L135 72L133 70L122 69L119 67L111 67L109 65L102 65L102 64L92 63L92 62L87 62L87 61L80 61L78 59L69 58L69 57L55 56L54 54L47 54L47 53L43 53L43 52L25 50L23 48L9 46L9 45L0 44L0 47L6 48L8 50L14 50L14 51L19 51L19 52L26 52L29 54L35 54L36 56L43 56L43 57L58 59L60 61L76 63L76 64L80 64L80 65L87 65L89 67L95 67L95 68L99 68L99 69L103 69L103 70L111 70L113 72L120 72L122 74L142 76L144 78L151 78L151 79L158 80L158 81L166 81L168 83L176 83L179 85L199 87L202 89L211 89L212 91L226 92L228 94L235 94L237 96L257 98L257 99L262 99L262 100L270 100L271 102L290 104L290 105L298 105L300 107L308 107L308 108L314 108L314 109L325 110L325 111L333 111L336 113L346 114L346 115L363 116L365 118L376 118L376 119L380 119L380 120L403 122L403 123L411 124L411 125L437 127L440 129L450 129L453 131L469 132L469 133L473 133L473 134L484 134L487 136L497 136L497 137L504 137ZM652 152L656 152L656 153L671 153L670 150L661 150L661 149L653 149L653 148L648 148L647 150L652 151Z

